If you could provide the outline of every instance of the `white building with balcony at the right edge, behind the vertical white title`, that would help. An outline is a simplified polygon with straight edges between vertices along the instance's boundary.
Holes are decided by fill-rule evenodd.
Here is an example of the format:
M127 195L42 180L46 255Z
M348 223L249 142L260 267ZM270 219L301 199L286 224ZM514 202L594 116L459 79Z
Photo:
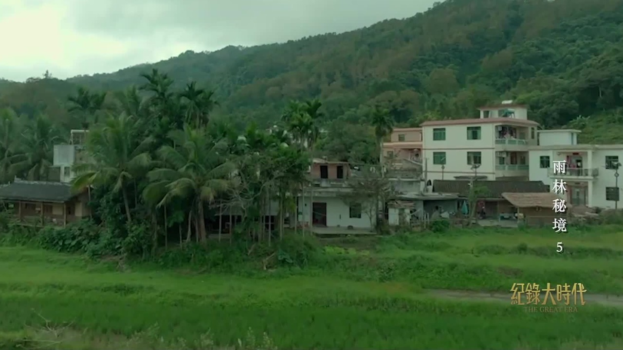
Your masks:
M618 169L623 144L578 144L579 130L539 130L538 146L530 146L530 180L552 186L566 182L567 201L574 206L616 208ZM565 174L554 174L553 162L566 161ZM623 168L621 169L623 171Z

